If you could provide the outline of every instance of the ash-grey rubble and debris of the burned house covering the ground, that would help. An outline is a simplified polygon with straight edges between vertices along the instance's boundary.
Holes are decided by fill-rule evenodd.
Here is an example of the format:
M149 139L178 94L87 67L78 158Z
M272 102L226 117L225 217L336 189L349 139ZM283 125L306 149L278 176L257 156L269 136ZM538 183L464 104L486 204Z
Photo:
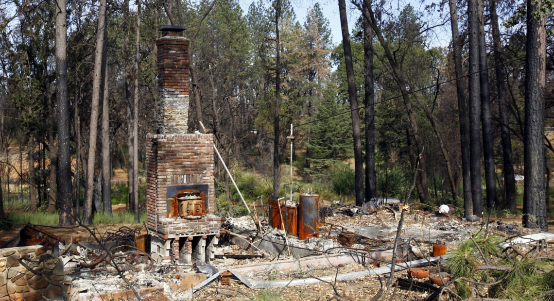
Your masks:
M120 227L102 234L92 231L90 240L67 242L40 227L26 226L1 247L43 245L53 250L48 253L59 256L65 273L56 277L63 279L66 299L71 300L136 299L137 295L151 300L269 299L272 295L286 300L370 299L387 281L393 256L397 262L394 288L385 296L428 299L437 298L440 292L440 298L448 299L443 288L451 276L442 267L448 252L472 233L485 229L506 240L531 237L513 243L540 241L546 243L546 252L554 238L550 233L538 237L536 231L501 219L469 222L400 203L375 207L371 214L354 205L324 207L317 233L305 240L268 225L267 215L256 214L256 224L250 216L227 217L214 260L193 264L154 262L144 241L144 227ZM41 231L44 234L38 234ZM395 240L396 253L392 251ZM423 267L427 274L420 274L416 267ZM27 300L25 293L13 292L0 300L17 294ZM63 299L59 290L55 293L50 298Z

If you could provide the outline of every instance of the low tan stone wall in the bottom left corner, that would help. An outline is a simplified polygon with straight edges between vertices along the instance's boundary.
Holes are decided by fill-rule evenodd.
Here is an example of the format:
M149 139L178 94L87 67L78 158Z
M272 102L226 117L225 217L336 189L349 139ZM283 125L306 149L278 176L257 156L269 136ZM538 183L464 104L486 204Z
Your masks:
M20 261L39 274L29 271ZM35 301L43 295L61 295L61 287L49 282L63 285L63 281L64 264L52 255L52 248L29 246L0 250L0 301Z

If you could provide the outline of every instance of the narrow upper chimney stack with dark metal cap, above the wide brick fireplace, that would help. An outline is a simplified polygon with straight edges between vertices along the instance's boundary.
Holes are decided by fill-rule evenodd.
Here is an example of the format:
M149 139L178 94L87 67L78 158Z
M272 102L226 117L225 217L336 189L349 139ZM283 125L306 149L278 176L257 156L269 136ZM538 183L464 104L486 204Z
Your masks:
M183 134L188 130L188 44L183 27L165 26L156 40L158 48L158 133Z

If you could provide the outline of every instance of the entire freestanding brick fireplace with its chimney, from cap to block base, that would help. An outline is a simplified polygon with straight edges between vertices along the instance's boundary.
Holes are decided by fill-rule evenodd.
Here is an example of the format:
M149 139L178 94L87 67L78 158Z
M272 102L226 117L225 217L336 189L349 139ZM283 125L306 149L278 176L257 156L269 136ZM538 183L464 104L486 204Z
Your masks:
M147 135L147 225L152 258L210 262L218 242L214 215L213 134L188 132L188 39L162 27L156 40L158 131Z

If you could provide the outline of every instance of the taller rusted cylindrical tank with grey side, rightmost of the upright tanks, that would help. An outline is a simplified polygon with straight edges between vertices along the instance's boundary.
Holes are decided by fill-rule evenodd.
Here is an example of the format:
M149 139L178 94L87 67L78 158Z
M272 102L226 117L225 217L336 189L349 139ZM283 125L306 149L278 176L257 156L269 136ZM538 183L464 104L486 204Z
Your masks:
M298 238L305 240L309 236L319 232L319 195L301 194L300 195L300 216Z

